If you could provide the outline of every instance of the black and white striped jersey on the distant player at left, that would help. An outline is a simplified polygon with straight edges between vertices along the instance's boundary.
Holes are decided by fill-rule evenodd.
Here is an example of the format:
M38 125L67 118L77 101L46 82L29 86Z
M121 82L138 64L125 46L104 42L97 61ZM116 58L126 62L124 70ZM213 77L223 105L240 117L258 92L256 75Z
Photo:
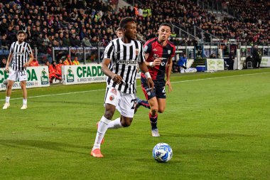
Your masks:
M13 70L24 70L23 64L27 63L28 55L32 53L30 45L26 42L21 44L18 41L11 44L10 52L13 53L12 56L12 69Z

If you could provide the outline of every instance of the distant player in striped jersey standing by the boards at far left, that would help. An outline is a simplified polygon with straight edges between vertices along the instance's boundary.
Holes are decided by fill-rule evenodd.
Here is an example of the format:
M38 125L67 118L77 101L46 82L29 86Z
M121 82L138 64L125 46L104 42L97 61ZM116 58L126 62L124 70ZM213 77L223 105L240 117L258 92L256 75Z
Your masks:
M9 100L11 97L11 89L13 83L16 80L19 80L21 83L21 90L23 90L23 106L21 110L25 110L27 108L27 90L26 90L26 80L27 73L26 67L30 65L33 60L33 53L31 47L28 43L24 42L26 38L26 33L23 31L18 31L17 39L18 41L13 42L11 44L10 53L8 62L6 63L6 72L9 72L8 85L6 87L6 103L3 109L7 109L9 107ZM28 60L29 55L29 60ZM11 63L11 70L9 70L9 64Z

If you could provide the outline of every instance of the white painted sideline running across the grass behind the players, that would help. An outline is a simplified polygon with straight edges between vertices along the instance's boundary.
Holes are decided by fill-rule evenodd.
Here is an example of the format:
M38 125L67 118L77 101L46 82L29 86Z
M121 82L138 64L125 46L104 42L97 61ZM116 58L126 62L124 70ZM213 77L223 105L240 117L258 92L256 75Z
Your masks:
M216 77L216 78L203 78L203 79L198 79L198 80L213 80L213 79L220 79L220 78L231 78L231 77L237 77L237 76L246 76L246 75L261 75L261 74L266 74L269 72L265 72L265 73L253 73L253 74L245 74L245 75L229 75L229 76L221 76L221 77ZM186 82L191 82L191 81L198 81L198 80L179 80L179 81L174 81L171 83L186 83ZM138 85L137 87L139 87L141 85ZM104 89L102 89L104 90ZM95 91L100 91L100 90L85 90L85 91L77 91L77 92L66 92L66 93L58 93L58 94L53 94L53 95L36 95L36 96L31 96L28 98L36 98L36 97L48 97L48 96L54 96L54 95L71 95L71 94L77 94L77 93L84 93L84 92L95 92ZM22 99L22 97L18 97L18 98L12 98L11 100L20 100ZM0 100L0 101L4 101L4 100Z

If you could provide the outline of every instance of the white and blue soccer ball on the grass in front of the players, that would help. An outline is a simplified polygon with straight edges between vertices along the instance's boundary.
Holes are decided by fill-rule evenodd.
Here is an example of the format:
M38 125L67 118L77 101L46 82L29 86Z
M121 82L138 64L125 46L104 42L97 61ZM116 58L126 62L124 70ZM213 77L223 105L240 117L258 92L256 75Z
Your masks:
M173 157L173 149L166 143L158 143L153 147L153 159L157 162L168 162Z

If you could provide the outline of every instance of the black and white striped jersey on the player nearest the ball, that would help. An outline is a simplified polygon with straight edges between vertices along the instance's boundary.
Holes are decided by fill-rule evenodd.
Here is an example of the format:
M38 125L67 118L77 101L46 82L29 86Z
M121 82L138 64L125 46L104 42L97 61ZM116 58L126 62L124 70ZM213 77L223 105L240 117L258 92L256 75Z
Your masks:
M122 83L117 85L112 78L107 77L107 85L121 92L133 94L136 92L136 73L139 62L144 62L144 47L140 41L124 43L121 38L112 40L105 48L104 59L110 59L109 69L121 75Z

